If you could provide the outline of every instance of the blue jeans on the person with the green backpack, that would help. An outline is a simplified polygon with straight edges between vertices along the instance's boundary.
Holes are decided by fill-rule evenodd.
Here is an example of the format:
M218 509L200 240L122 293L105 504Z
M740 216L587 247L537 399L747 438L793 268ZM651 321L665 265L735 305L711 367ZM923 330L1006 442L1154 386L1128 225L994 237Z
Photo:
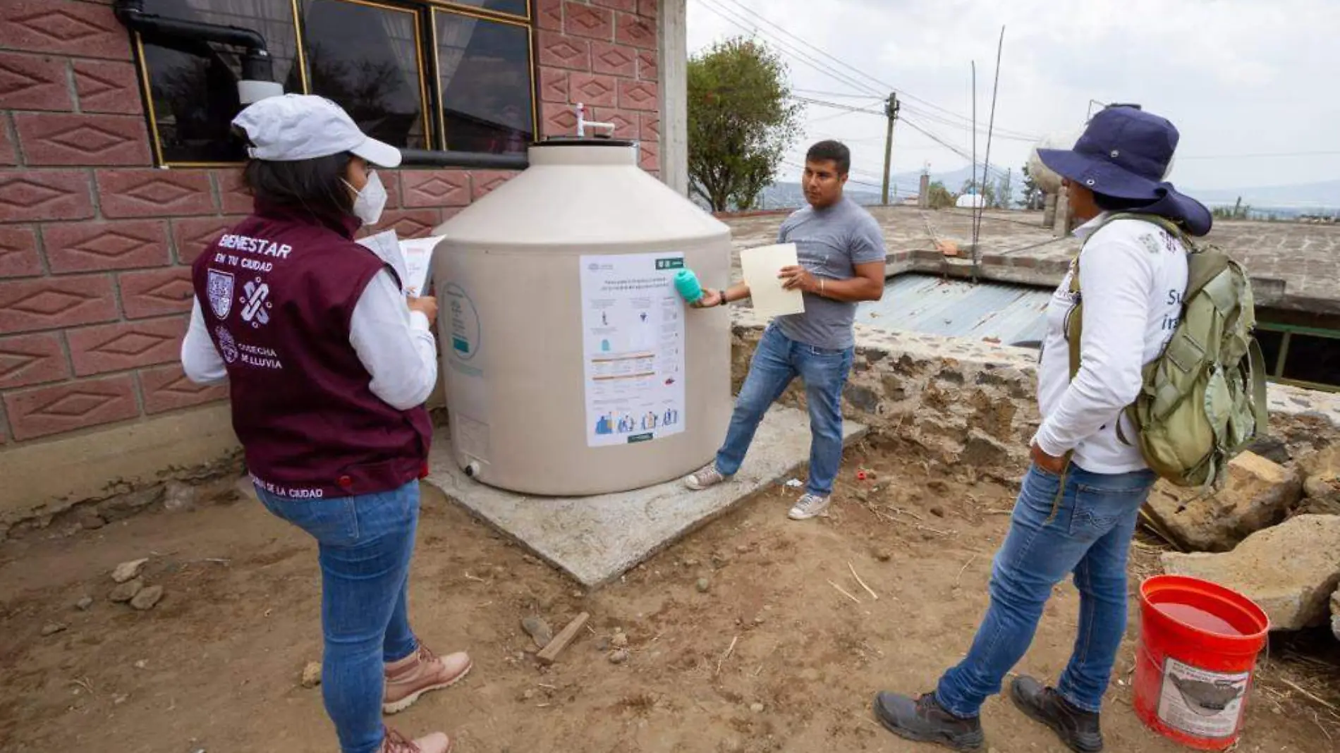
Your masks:
M1052 587L1075 573L1079 634L1056 690L1099 711L1126 632L1126 556L1151 470L1089 473L1071 464L1056 516L1060 477L1032 466L1014 502L1009 536L992 568L992 603L967 657L939 679L935 697L958 717L976 717L1024 657ZM1051 520L1049 520L1051 519Z

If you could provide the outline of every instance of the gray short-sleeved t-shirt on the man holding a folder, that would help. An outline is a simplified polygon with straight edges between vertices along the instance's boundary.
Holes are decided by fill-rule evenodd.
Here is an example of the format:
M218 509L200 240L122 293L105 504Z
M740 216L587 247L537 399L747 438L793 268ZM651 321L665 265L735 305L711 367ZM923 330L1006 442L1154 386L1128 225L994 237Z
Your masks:
M807 206L787 217L777 233L777 243L796 244L800 265L816 277L848 280L856 276L856 264L883 261L884 234L879 222L855 201L842 201L825 209ZM804 293L805 312L779 316L781 332L820 348L852 347L851 324L856 304Z

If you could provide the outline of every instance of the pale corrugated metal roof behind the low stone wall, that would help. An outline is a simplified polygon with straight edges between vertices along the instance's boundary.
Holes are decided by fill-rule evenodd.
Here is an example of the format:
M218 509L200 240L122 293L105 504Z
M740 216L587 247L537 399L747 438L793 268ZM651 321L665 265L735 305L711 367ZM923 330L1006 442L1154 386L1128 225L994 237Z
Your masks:
M969 283L934 275L899 275L884 297L856 310L859 324L1004 344L1041 340L1052 291L1008 283Z

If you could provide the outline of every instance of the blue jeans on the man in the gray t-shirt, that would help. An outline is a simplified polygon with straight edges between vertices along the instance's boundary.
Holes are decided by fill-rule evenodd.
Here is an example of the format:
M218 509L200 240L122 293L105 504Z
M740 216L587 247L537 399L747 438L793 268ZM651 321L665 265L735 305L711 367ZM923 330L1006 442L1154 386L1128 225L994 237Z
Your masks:
M805 490L820 497L831 494L842 465L842 389L851 371L854 350L807 346L783 335L776 324L768 326L740 387L726 441L717 452L717 470L724 476L740 470L768 407L792 379L800 376L809 406L809 484Z

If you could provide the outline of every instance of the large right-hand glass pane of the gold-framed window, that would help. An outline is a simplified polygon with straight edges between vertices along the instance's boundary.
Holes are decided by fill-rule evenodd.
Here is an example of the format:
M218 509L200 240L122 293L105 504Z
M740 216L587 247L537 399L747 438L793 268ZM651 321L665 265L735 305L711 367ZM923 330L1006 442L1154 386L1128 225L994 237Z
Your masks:
M434 12L446 149L525 151L532 118L531 31Z

